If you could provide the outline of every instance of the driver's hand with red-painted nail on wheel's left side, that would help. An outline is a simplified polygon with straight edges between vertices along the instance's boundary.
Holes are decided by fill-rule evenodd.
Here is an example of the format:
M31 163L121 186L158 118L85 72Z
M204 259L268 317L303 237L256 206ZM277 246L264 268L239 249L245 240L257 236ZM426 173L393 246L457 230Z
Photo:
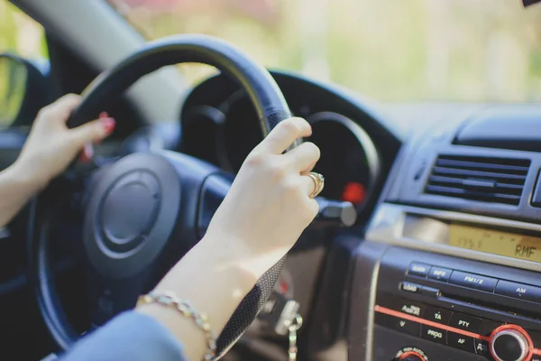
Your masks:
M79 104L75 94L60 97L43 107L34 120L14 169L36 190L64 171L86 144L101 141L115 129L115 120L108 117L69 129L66 122Z

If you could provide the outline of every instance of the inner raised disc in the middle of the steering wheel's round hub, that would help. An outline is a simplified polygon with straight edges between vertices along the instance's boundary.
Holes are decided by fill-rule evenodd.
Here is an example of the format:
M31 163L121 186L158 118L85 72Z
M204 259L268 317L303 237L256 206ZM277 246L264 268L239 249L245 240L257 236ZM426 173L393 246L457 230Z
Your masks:
M147 238L160 208L160 184L149 171L133 171L116 180L98 210L99 241L109 251L132 251Z

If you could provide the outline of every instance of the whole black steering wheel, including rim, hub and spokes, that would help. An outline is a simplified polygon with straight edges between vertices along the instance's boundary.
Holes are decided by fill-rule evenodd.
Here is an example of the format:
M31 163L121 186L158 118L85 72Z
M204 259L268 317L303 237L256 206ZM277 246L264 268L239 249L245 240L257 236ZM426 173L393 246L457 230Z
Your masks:
M257 110L264 135L290 116L280 88L261 65L226 42L205 35L181 35L151 42L98 76L83 93L69 125L96 118L106 99L118 96L156 69L181 62L212 65L238 81ZM82 205L84 270L93 325L103 325L132 308L140 294L150 291L197 244L231 181L212 164L170 151L132 153L87 177L87 201ZM39 199L37 203L37 216L29 225L33 230L29 239L32 279L52 338L68 349L80 335L69 323L54 287L50 212ZM217 355L223 355L257 316L283 261L264 274L235 310L217 340Z

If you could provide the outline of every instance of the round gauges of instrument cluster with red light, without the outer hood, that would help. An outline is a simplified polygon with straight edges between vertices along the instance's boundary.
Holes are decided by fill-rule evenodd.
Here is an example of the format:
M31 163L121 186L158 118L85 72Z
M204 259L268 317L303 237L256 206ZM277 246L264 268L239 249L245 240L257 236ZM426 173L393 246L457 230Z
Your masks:
M210 93L196 106L189 106L188 98L179 150L236 173L263 134L250 98L240 88L227 90L225 97ZM361 211L381 173L381 156L371 136L352 118L320 109L309 98L304 102L286 98L293 115L306 118L313 127L312 136L304 141L321 150L315 169L326 178L321 196L350 201Z

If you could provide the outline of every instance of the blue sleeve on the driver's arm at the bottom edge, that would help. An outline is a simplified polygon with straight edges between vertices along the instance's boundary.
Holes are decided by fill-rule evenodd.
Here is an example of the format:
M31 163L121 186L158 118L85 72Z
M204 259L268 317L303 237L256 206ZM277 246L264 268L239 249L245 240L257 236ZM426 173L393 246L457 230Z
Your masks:
M186 361L168 329L150 316L127 311L82 338L62 361Z

